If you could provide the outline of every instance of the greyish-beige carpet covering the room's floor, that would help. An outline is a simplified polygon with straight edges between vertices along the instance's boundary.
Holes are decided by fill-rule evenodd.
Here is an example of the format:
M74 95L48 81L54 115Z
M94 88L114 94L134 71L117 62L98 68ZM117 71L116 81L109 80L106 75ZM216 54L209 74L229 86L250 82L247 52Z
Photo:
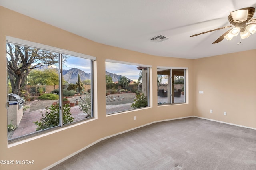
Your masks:
M108 138L51 170L256 170L256 130L199 118Z

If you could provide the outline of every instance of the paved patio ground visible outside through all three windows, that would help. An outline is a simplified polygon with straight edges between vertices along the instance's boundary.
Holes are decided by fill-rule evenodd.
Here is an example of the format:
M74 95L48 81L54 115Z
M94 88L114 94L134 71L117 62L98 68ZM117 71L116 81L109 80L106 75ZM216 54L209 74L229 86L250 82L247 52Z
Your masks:
M175 97L174 102L175 103L183 103L184 101L184 95L181 97ZM158 103L159 102L166 102L167 103L167 97L159 97L158 96ZM126 104L121 104L121 105L106 105L106 114L111 114L111 113L117 113L117 112L122 112L122 111L127 111L127 110L132 110L133 108L131 107L132 103L126 103ZM30 109L27 109L24 112L24 115L20 121L20 124L18 128L14 131L13 135L11 138L17 138L26 134L31 134L33 132L36 132L37 126L34 124L35 121L40 120L42 117L42 114L40 112L45 111L45 109L40 109L36 111L29 111ZM85 114L80 111L79 106L74 106L70 107L70 112L72 113L72 116L74 117L74 121L78 121L81 119L84 119Z

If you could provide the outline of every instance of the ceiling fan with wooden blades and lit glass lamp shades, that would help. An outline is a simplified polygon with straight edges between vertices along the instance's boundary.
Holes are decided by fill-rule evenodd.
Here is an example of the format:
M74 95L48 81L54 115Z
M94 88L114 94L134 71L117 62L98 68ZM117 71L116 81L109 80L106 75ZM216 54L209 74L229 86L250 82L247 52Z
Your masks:
M198 36L208 32L235 26L235 28L231 28L230 30L225 32L213 43L221 42L224 38L226 38L227 40L231 40L234 36L237 36L239 33L240 33L241 39L248 38L251 34L254 34L256 32L256 18L252 18L254 15L254 12L255 12L255 8L253 7L242 8L240 10L232 11L228 16L228 21L232 25L225 26L222 28L216 28L214 30L209 30L206 32L201 32L199 34L194 34L190 37L194 37L194 36ZM240 44L240 43L241 42L238 42L237 44Z

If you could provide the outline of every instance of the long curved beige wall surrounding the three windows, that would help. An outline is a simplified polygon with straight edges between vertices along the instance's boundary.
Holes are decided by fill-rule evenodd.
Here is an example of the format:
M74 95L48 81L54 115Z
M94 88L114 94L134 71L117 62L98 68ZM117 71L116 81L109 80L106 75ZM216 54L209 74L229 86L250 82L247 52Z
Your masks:
M95 119L36 135L14 144L7 142L6 83L0 83L0 160L34 160L33 165L0 165L0 169L42 169L110 135L158 120L193 115L193 61L157 57L92 42L80 36L0 6L0 77L6 79L6 36L20 38L96 57ZM106 116L105 60L152 65L150 107ZM188 67L188 104L157 106L157 66ZM152 78L153 77L153 78ZM5 81L4 81L5 82ZM136 121L134 121L136 116Z

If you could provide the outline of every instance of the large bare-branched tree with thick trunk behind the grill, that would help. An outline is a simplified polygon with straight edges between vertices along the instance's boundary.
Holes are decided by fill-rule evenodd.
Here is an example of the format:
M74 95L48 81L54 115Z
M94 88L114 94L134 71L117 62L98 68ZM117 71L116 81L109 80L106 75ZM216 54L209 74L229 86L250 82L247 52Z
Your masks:
M26 83L30 71L44 65L55 65L59 61L59 54L22 45L6 43L6 59L8 79L12 93L20 95L20 90ZM64 61L66 57L64 56Z

